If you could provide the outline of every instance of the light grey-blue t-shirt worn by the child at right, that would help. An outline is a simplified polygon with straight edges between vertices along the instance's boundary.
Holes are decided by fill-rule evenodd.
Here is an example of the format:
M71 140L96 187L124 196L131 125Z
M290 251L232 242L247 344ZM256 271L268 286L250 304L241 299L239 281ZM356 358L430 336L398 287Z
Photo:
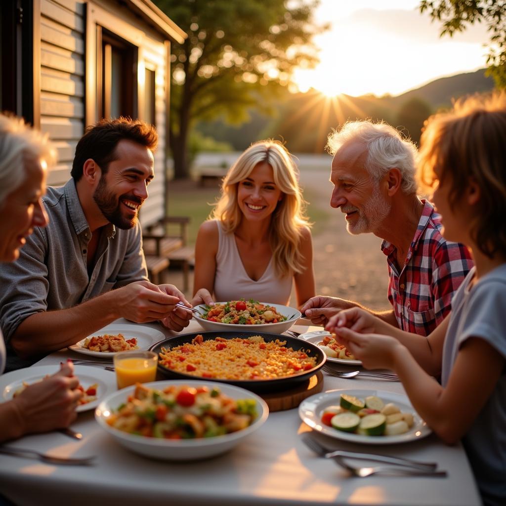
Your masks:
M443 387L448 384L460 346L468 338L485 340L506 358L506 264L469 288L474 272L475 268L452 300L443 347ZM506 370L462 443L485 503L506 504Z

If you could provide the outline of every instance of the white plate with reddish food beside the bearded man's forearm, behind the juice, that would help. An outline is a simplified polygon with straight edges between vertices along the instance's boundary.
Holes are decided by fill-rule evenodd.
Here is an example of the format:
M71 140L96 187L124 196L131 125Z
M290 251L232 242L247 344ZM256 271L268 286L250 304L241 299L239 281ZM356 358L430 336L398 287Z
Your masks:
M135 323L112 323L87 338L81 339L69 350L100 358L110 358L121 351L147 350L165 335L155 328Z

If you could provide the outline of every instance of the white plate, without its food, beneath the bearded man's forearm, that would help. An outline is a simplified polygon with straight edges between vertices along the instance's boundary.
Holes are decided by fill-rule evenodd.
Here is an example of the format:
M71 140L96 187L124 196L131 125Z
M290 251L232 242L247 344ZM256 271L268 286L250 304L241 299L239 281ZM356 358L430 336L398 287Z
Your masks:
M156 330L155 328L145 327L143 325L137 325L136 323L111 323L93 334L90 334L85 339L91 339L96 335L104 335L104 334L123 334L125 340L137 338L137 346L138 350L149 350L149 348L157 343L165 339L165 335L163 332ZM83 348L85 343L85 339L81 339L81 341L77 342L75 345L69 346L69 350L76 351L77 353L83 353L85 355L92 355L94 357L100 358L110 358L118 352L111 351L91 351L87 348Z

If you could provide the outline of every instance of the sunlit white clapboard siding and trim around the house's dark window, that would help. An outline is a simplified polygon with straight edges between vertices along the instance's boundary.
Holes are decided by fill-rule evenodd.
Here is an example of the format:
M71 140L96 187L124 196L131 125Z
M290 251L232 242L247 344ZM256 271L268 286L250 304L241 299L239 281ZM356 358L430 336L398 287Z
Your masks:
M142 19L115 0L95 0L98 22L122 36L130 28L131 43L139 47L139 70L144 63L155 69L155 117L159 135L155 153L155 179L143 206L146 225L164 215L165 187L165 47L162 37ZM48 184L63 185L70 177L77 141L85 129L85 2L41 0L40 4L40 129L49 133L58 149L58 165ZM91 33L95 36L95 33ZM142 98L141 98L142 100ZM139 110L142 110L139 108ZM141 119L143 119L141 117Z

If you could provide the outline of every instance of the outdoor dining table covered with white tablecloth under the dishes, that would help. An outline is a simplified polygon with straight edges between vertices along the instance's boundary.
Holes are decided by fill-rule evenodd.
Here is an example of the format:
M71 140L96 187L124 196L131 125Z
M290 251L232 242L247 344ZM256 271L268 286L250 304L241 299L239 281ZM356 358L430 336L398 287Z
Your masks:
M150 325L167 337L177 335L156 323ZM306 332L316 328L299 324L292 330ZM198 323L192 321L181 333L199 329ZM35 365L57 366L66 358L83 356L62 350ZM324 373L323 391L345 388L405 393L398 382L371 381L360 375L342 379ZM381 446L359 445L318 435L320 442L334 449L436 461L439 469L448 472L445 478L350 477L335 462L318 457L304 445L301 436L311 429L300 419L297 409L271 412L260 430L245 438L232 451L190 462L149 459L123 448L99 427L93 410L80 413L72 429L82 433L82 440L52 432L26 436L9 444L59 456L97 455L94 465L54 466L0 455L2 494L15 504L34 506L128 506L154 504L155 501L185 506L472 506L481 503L466 453L460 444L447 446L434 434L413 442Z

